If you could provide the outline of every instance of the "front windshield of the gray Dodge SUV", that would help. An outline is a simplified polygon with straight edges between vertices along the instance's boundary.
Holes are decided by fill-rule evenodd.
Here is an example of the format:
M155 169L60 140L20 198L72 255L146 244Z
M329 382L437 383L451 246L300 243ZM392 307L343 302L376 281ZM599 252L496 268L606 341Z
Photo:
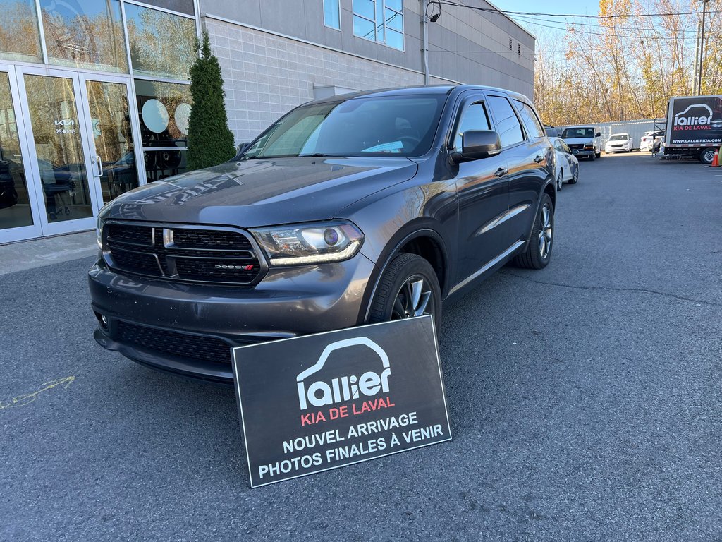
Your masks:
M432 143L446 95L353 98L301 106L241 160L295 156L417 156Z

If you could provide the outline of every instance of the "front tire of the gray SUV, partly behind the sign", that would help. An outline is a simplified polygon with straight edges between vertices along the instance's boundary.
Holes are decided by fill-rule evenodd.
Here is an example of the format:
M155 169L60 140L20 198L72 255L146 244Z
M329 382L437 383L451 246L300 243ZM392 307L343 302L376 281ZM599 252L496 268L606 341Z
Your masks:
M414 284L419 280L420 293L414 302ZM422 314L431 314L436 330L440 329L441 290L436 272L417 254L399 254L381 275L371 301L369 322L388 322Z

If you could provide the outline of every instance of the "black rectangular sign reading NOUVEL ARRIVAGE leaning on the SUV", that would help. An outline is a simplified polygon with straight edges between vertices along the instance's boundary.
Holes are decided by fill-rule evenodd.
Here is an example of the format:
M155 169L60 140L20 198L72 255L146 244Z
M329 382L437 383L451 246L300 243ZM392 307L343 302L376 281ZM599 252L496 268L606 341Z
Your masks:
M451 439L431 317L233 349L251 487Z

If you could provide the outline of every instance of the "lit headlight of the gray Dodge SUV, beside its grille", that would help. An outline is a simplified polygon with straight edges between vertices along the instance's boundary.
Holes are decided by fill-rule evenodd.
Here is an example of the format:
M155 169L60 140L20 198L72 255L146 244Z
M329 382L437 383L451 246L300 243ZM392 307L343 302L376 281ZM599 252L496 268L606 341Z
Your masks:
M350 222L293 224L251 230L271 265L341 262L361 248L364 236Z

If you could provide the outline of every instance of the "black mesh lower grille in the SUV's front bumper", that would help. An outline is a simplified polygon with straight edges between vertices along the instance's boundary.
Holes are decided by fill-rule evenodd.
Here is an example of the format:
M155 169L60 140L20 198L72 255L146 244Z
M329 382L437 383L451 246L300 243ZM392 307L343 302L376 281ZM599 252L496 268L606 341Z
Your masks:
M173 354L183 359L210 361L230 365L231 345L214 337L189 335L177 331L158 330L118 321L117 338L121 343L139 345L149 350Z

